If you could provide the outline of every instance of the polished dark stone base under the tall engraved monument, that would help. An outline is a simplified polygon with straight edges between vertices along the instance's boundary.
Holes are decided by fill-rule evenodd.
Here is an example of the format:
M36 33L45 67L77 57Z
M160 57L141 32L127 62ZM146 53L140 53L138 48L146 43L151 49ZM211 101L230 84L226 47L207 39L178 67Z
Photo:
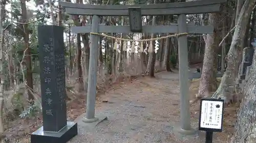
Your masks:
M40 127L30 134L31 143L66 143L77 135L77 123L67 122L59 132L47 132Z

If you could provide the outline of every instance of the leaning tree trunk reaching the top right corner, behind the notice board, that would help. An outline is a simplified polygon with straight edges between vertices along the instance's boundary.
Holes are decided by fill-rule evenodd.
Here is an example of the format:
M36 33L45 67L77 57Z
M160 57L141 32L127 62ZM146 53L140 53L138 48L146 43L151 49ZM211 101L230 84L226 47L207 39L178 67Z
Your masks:
M234 35L227 53L227 69L222 76L219 88L214 93L212 98L221 98L225 103L233 100L235 80L238 75L238 68L242 57L243 36L246 30L246 25L256 0L246 0L238 17Z

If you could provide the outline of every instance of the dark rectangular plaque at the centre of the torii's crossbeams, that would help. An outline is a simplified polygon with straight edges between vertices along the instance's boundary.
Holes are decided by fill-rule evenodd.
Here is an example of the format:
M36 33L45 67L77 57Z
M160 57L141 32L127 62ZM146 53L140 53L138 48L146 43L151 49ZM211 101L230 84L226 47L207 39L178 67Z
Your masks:
M131 32L142 32L141 8L128 8Z

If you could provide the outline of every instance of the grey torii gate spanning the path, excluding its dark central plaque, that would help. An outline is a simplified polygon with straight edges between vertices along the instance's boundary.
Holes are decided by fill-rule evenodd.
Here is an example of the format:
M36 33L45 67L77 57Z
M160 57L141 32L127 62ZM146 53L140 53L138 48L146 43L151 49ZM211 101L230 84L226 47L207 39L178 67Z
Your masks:
M226 0L205 0L183 3L154 5L84 5L59 2L63 10L70 15L92 15L92 24L73 26L72 33L131 33L130 26L100 25L99 16L128 16L129 8L140 8L142 16L179 15L175 25L143 25L142 33L190 33L212 34L213 26L195 26L186 24L186 14L214 13L220 11L221 3ZM189 81L187 36L178 37L179 44L179 84L180 84L180 133L190 134ZM98 122L95 117L96 74L99 35L90 34L90 63L88 79L87 109L84 122Z

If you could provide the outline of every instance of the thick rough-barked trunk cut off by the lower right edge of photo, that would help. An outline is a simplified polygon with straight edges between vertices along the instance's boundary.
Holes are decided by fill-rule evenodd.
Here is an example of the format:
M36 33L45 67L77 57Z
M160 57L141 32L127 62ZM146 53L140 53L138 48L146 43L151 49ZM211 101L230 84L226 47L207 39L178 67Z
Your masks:
M256 50L256 49L255 49ZM231 143L254 143L256 140L256 52L253 55L252 68L250 70L247 84L244 88L244 100L241 103L236 132Z

